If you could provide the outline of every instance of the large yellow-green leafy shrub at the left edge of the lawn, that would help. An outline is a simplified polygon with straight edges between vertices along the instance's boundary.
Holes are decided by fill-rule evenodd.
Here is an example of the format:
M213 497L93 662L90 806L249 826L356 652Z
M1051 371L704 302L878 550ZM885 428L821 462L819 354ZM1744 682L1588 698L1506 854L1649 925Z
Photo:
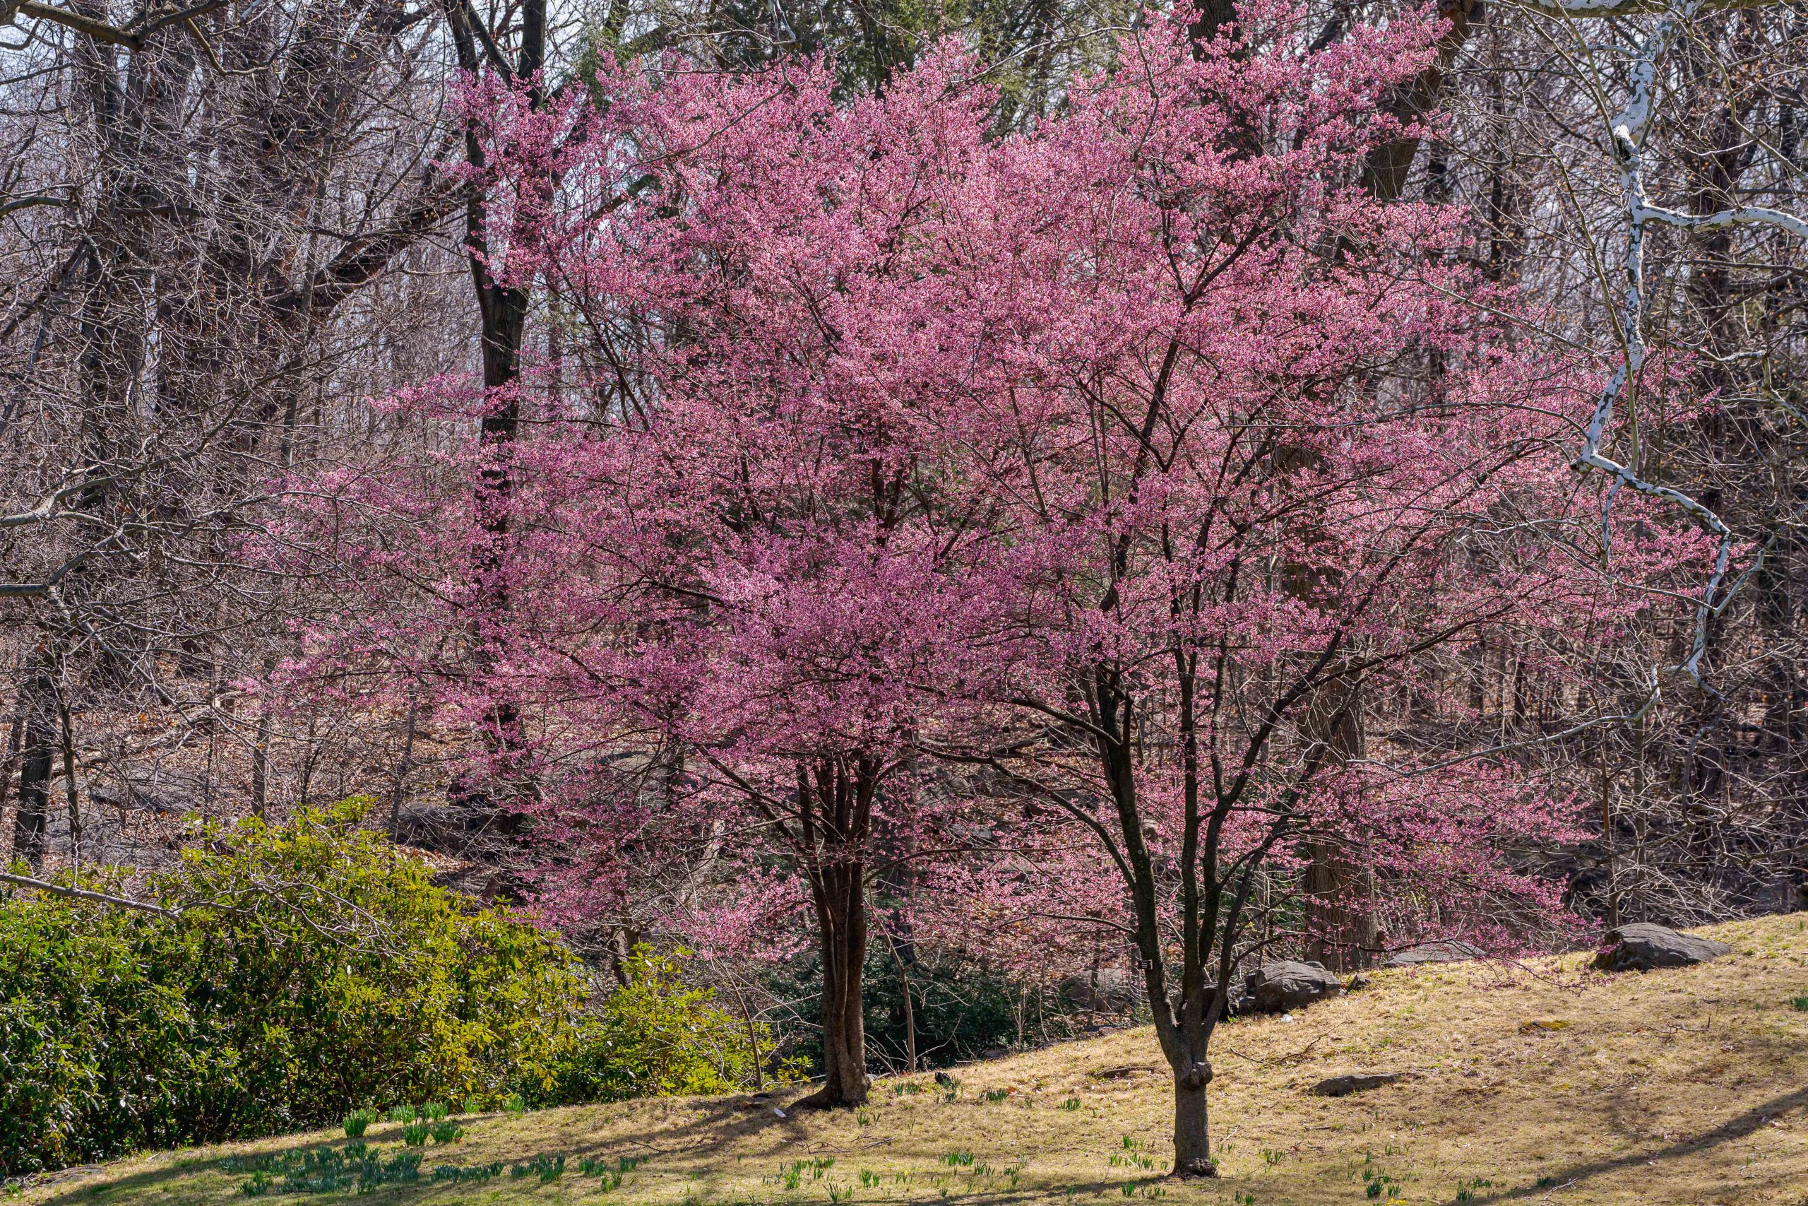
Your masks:
M0 1175L568 1078L571 956L363 808L212 830L141 891L166 915L0 888Z

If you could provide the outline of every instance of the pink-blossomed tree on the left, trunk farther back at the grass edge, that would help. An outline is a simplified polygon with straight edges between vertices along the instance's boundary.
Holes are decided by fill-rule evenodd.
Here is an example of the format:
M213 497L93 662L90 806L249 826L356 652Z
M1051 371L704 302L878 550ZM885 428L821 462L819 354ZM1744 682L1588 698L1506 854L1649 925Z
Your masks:
M741 922L785 899L774 870L801 882L823 962L814 1105L866 1099L868 884L946 850L960 806L913 790L918 738L996 694L1002 665L976 656L1005 629L984 573L1000 501L962 466L996 445L975 418L1009 365L944 271L993 154L985 98L951 74L967 67L846 107L823 65L609 67L553 107L474 81L485 192L513 199L486 213L488 271L546 282L570 362L515 385L510 490L485 495L504 524L465 501L494 472L481 443L325 483L306 519L363 591L320 647L472 723L495 700L519 718L492 770L535 783L553 908L633 911L653 890L654 913L743 949L761 935ZM401 405L470 419L494 401L434 383ZM470 582L472 548L497 584ZM483 656L423 655L466 631Z

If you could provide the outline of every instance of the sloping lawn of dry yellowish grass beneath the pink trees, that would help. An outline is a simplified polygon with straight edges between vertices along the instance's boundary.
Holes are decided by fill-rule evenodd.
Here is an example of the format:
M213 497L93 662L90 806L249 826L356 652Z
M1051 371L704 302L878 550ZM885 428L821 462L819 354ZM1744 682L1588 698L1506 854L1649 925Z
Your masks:
M1222 1177L1163 1179L1168 1081L1146 1029L926 1076L882 1079L859 1116L779 1117L745 1098L463 1119L423 1177L372 1204L745 1202L1625 1202L1808 1204L1808 917L1719 926L1714 964L1604 976L1582 955L1381 973L1293 1020L1220 1031L1213 1137ZM1407 1072L1367 1094L1305 1094L1340 1072ZM400 1150L400 1126L367 1135ZM69 1170L24 1202L246 1202L222 1157L344 1146L340 1134ZM564 1155L562 1175L512 1175ZM580 1159L615 1177L586 1175ZM434 1182L438 1164L501 1175ZM273 1192L278 1202L351 1199Z

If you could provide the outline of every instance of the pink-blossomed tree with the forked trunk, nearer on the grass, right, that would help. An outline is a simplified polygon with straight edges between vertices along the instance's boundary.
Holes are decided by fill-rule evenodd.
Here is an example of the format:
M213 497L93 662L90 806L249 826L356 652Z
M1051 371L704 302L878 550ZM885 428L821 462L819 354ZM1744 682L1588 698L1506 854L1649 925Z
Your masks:
M1354 186L1434 33L1311 49L1291 9L1244 5L1206 47L1139 34L998 148L973 215L969 307L1016 349L980 400L1012 452L975 472L1009 499L1018 640L994 727L965 730L987 743L924 745L1059 806L1116 870L1188 1177L1213 1172L1240 966L1349 942L1313 919L1499 947L1560 913L1513 855L1569 832L1566 801L1410 734L1370 747L1361 702L1454 718L1454 647L1631 606L1549 452L1580 374L1511 354L1484 318L1504 300L1439 255L1454 215Z

